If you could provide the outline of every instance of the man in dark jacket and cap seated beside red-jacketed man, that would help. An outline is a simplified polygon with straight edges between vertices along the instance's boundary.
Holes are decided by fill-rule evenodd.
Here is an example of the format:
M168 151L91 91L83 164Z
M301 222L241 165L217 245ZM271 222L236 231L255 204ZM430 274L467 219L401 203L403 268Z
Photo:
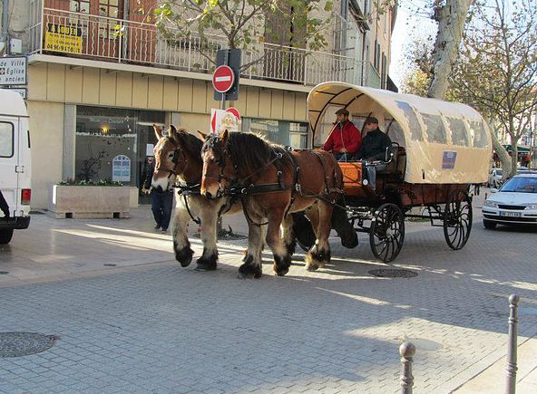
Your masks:
M392 140L378 129L378 120L374 117L369 117L364 122L364 130L367 134L362 139L362 148L358 150L357 159L368 162L376 160L385 160L386 148L392 146ZM376 167L366 166L367 178L369 178L370 186L376 189Z

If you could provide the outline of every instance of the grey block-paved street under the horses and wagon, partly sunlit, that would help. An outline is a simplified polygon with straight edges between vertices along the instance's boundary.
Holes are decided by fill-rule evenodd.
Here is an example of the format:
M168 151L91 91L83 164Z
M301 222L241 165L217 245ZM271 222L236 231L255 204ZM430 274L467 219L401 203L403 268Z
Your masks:
M265 275L242 281L246 241L219 243L216 272L183 269L148 207L131 219L34 215L0 247L0 332L59 338L0 359L0 392L397 392L406 340L417 348L415 392L450 392L505 355L509 294L522 298L519 343L537 334L535 232L484 230L482 200L462 251L442 228L406 223L393 265L418 273L410 279L369 274L386 265L366 235L354 250L333 238L332 263L318 272L298 254L288 275L273 276L266 254ZM225 222L244 231L240 216ZM520 365L518 392L537 391L536 367ZM488 392L503 392L503 370Z

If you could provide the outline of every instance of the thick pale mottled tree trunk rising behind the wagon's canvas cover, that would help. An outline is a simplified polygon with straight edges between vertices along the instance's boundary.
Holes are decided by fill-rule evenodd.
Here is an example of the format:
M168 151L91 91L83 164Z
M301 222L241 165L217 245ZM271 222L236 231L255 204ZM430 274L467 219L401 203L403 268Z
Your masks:
M446 0L445 5L439 5L440 0L435 0L435 3L434 19L438 22L438 34L434 43L433 79L427 95L444 100L448 77L463 37L468 7L474 0Z

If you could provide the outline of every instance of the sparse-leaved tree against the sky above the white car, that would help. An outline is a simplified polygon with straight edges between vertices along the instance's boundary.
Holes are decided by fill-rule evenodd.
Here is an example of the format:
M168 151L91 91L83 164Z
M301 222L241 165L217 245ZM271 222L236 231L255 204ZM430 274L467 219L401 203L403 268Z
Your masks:
M475 9L453 87L462 100L489 115L493 129L509 135L511 168L503 172L510 176L516 171L519 140L531 129L537 110L537 0L492 3ZM496 152L504 154L499 147Z

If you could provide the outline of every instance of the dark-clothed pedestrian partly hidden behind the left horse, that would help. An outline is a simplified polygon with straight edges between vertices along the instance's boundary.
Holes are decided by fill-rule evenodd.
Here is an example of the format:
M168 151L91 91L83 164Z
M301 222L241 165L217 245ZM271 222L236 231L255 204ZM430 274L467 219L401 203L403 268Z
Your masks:
M142 193L151 195L151 211L155 219L155 230L162 233L168 231L171 219L171 209L173 207L173 191L171 189L162 190L151 186L151 180L155 169L155 158L148 157L145 164L145 177L143 180Z

